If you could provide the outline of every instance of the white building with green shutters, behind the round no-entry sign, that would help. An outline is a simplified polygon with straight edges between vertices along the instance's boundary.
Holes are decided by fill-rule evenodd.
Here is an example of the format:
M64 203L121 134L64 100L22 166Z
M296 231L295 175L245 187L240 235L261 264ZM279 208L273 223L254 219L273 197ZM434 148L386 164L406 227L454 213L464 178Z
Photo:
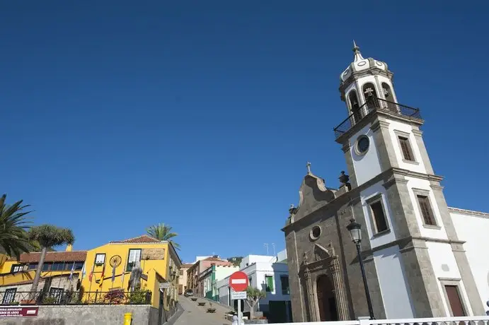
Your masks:
M263 312L272 322L291 321L289 270L287 263L278 262L279 259L287 259L287 253L284 250L277 256L248 255L241 261L240 271L248 275L251 287L267 293L258 303L258 311ZM219 291L219 302L236 307L237 301L231 300L229 277L217 281L216 288ZM243 302L243 306L244 312L249 312L246 302Z

